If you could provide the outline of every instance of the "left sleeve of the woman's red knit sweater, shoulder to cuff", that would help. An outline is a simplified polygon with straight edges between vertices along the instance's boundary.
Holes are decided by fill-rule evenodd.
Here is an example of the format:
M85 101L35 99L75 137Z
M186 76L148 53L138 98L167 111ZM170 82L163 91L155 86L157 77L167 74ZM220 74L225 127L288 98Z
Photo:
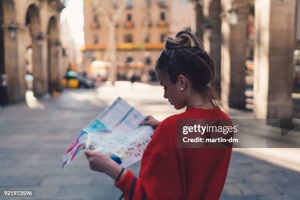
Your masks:
M176 121L165 120L155 131L145 150L137 178L133 200L177 200L182 197L180 170L175 157ZM125 200L129 199L134 175L127 171L115 185L120 188Z

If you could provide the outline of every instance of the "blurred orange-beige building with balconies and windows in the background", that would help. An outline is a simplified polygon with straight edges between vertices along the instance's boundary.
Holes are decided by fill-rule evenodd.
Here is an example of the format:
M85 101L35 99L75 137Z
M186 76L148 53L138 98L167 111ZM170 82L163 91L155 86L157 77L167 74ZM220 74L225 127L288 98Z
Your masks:
M125 79L130 70L138 77L154 70L155 62L164 48L165 37L171 33L171 8L171 0L127 1L116 24L119 79ZM91 1L84 1L85 46L82 51L86 71L93 61L106 61L104 54L109 38L108 26L104 17L95 10ZM146 25L145 20L148 20Z

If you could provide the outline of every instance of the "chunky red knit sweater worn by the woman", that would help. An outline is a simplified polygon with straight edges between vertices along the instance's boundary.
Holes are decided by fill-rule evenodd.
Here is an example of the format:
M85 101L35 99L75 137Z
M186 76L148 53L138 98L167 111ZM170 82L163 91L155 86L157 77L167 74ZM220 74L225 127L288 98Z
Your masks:
M231 149L180 149L177 119L229 119L219 108L189 107L155 130L144 151L133 200L218 200L224 187ZM129 198L135 176L127 171L115 185Z

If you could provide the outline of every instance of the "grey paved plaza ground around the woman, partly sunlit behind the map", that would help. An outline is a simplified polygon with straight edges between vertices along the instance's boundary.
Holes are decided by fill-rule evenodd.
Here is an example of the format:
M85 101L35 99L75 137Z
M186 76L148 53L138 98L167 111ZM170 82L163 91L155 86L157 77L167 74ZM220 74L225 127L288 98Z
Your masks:
M67 90L56 99L42 98L37 102L31 98L27 104L0 108L0 190L33 189L35 200L118 199L121 192L114 187L113 180L92 172L82 153L65 169L61 168L62 155L72 138L118 96L159 120L181 112L163 99L160 86L131 86L128 82L97 90ZM251 117L249 112L236 110L230 110L229 115ZM291 163L299 159L299 152L290 159ZM266 157L272 156L262 156ZM281 167L281 160L274 160L233 152L221 199L299 200L297 163L293 168L296 170L291 170L288 161ZM137 163L130 170L138 175L139 166Z

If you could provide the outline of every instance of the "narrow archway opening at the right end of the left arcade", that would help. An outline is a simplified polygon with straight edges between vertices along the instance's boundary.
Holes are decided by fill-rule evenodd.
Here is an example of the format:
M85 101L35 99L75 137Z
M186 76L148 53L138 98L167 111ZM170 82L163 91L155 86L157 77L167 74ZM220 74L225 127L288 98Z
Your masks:
M55 16L52 16L49 20L48 36L48 90L52 93L60 90L60 42Z

